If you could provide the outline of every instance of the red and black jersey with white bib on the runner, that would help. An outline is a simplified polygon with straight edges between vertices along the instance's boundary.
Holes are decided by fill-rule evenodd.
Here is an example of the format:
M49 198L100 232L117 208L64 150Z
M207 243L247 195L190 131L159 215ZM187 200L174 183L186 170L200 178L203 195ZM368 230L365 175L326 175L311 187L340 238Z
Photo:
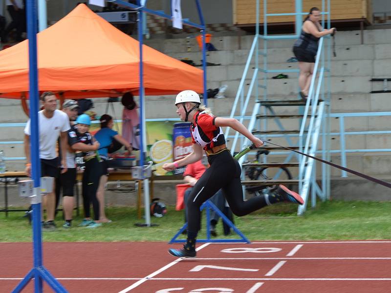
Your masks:
M198 144L204 150L225 144L225 138L221 127L215 126L216 117L204 112L197 112L194 124L191 126L193 144Z

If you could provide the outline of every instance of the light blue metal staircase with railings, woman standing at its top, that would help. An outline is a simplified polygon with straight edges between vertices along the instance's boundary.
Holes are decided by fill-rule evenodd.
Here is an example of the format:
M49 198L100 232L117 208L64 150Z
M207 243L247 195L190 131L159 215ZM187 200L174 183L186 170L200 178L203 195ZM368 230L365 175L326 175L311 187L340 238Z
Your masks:
M319 196L322 200L329 198L329 178L330 171L328 165L322 166L322 184L317 183L316 164L313 164L313 159L308 159L305 156L296 152L286 150L283 147L275 147L268 145L275 142L281 146L288 146L291 149L297 149L301 152L308 153L312 156L322 155L324 160L329 160L329 122L327 116L330 111L330 58L331 44L329 37L323 37L319 41L319 49L316 58L315 68L311 80L307 101L300 99L300 96L295 94L293 97L284 97L283 100L270 100L268 95L268 82L270 74L275 73L297 73L298 69L268 69L268 40L296 40L300 35L302 25L302 16L306 13L302 12L302 0L296 0L296 13L289 14L268 14L267 0L263 1L263 35L259 34L259 0L257 0L257 24L256 34L249 52L249 56L245 65L245 69L240 80L238 92L234 101L230 117L240 117L239 121L247 125L252 133L261 138L265 142L264 149L269 150L269 155L264 156L260 163L246 163L245 156L240 158L239 164L242 167L268 167L268 168L289 168L294 174L292 180L283 180L279 178L281 172L273 172L271 180L246 180L244 172L242 172L243 186L272 186L277 184L297 185L299 193L304 198L304 205L298 209L298 215L305 212L307 203L309 202L309 191L311 191L311 206L315 207L316 197ZM325 9L325 0L322 1L323 11L323 27L330 27L329 13L330 3L327 2ZM326 11L326 12L325 12ZM279 15L295 15L296 16L296 34L292 35L267 35L267 17ZM327 23L325 25L325 16ZM263 48L260 50L260 40L263 41ZM325 44L327 42L327 45ZM260 57L263 59L263 66L260 67ZM249 72L250 64L254 61L255 66L253 71ZM252 65L253 66L253 65ZM328 78L325 74L328 73ZM245 88L245 80L251 78L248 88ZM262 82L260 82L262 81ZM299 92L299 86L298 91ZM261 93L260 93L261 92ZM262 95L262 99L259 96ZM253 103L250 103L254 99ZM250 117L245 116L249 105L252 108ZM280 111L283 109L282 111ZM295 110L293 110L295 109ZM289 114L286 114L286 112ZM279 114L279 113L282 114ZM294 112L294 114L292 114ZM246 119L247 118L247 119ZM274 123L274 127L272 126ZM292 129L295 128L296 129ZM322 131L321 131L322 127ZM277 128L277 129L276 129ZM230 129L225 132L226 138L231 142L231 152L234 153L237 149L249 144L247 138L243 137L238 132L235 135L229 135ZM318 141L322 136L322 144L318 146ZM239 142L240 141L240 142ZM239 144L239 145L238 145ZM247 155L254 155L254 152L249 152ZM269 156L278 157L282 162L268 163Z

